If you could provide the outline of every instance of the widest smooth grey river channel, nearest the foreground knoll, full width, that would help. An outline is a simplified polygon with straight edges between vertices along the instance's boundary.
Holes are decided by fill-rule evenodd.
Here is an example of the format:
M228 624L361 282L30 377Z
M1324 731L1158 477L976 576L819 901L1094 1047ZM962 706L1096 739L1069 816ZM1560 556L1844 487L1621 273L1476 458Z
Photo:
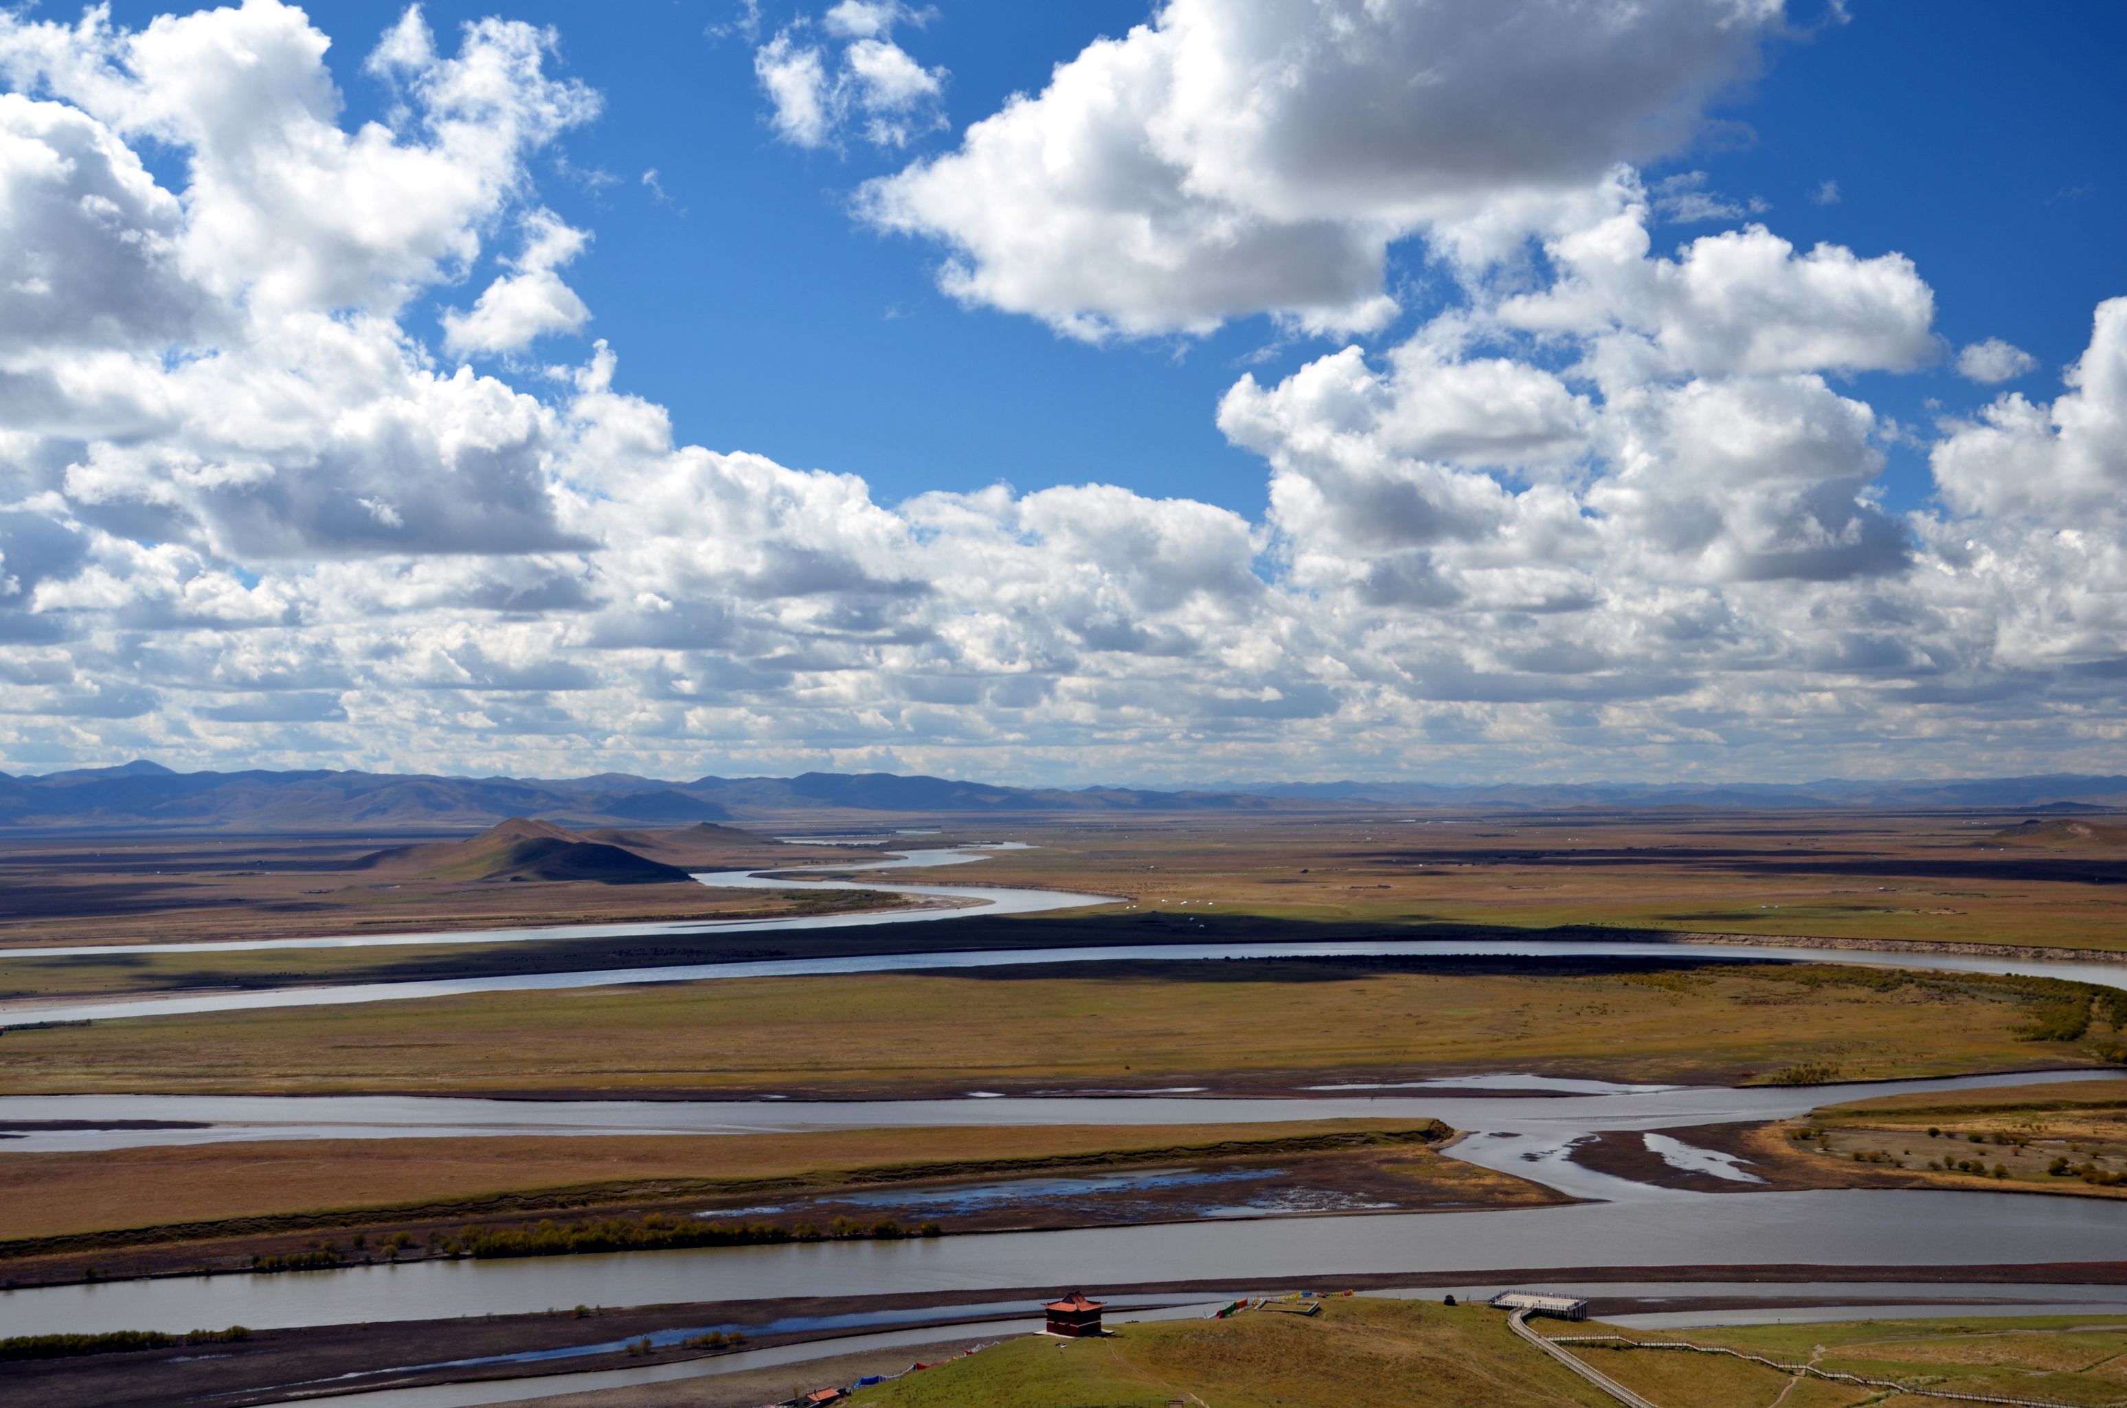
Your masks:
M1534 1265L1984 1265L2091 1261L2127 1246L2127 1208L2019 1193L1697 1195L1514 1212L1302 1217L917 1242L423 1261L0 1293L9 1334L255 1329L787 1295L1259 1280Z

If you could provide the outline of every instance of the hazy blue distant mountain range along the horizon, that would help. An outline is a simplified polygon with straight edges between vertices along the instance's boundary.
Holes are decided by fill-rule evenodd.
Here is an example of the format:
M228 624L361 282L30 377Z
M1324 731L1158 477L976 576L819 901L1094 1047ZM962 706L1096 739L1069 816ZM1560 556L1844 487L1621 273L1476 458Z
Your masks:
M45 776L0 774L0 829L445 832L536 817L572 827L696 821L832 823L836 812L1293 812L1319 808L1978 808L2099 812L2127 808L2127 776L2025 776L1795 785L1493 785L1219 783L1178 791L998 787L891 772L668 783L604 772L583 778L462 778L391 772L172 772L151 761Z

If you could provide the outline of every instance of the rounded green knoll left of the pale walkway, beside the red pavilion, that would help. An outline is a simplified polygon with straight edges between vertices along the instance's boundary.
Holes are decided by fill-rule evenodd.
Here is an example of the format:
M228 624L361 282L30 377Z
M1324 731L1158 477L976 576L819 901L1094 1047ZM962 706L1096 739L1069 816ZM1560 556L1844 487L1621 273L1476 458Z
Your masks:
M1476 1306L1340 1297L1314 1319L1244 1312L1110 1329L1102 1340L1010 1340L861 1389L853 1408L1614 1406Z

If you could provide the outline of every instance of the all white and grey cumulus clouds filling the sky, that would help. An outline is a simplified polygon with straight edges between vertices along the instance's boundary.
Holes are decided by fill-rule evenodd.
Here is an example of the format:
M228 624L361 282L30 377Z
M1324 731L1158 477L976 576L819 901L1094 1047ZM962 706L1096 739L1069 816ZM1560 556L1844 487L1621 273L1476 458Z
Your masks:
M1423 240L1448 311L1221 400L1268 466L1259 521L1104 483L881 504L855 472L676 442L604 345L540 393L440 362L587 319L559 270L589 232L527 160L598 100L547 72L542 30L447 51L408 11L364 79L398 108L345 130L325 36L274 0L0 17L0 755L691 776L889 749L1027 781L2104 761L2127 300L2055 400L1953 415L1940 506L1889 513L1910 432L1850 376L1942 355L1921 270L1757 223L1657 249L1663 194L1617 164L1689 132L1776 17L1176 0L874 187L974 221L936 225L970 298L1087 336L1370 323L1380 242ZM827 11L823 81L908 19ZM985 245L989 219L1019 223ZM421 311L449 300L432 349Z

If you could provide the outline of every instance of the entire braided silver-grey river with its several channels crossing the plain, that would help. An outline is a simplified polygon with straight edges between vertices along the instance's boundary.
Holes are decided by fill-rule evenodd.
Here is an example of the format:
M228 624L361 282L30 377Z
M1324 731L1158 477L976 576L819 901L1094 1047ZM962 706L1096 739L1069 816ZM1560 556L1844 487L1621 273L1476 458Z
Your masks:
M921 859L919 859L921 855ZM917 853L906 866L942 864L966 853ZM878 868L876 864L864 866ZM847 868L836 868L847 870ZM791 887L783 876L715 874L715 885ZM808 881L808 885L834 885ZM857 885L887 889L887 885ZM910 893L983 900L985 912L1036 912L1106 904L1095 895L981 887L891 887ZM1191 906L1193 908L1193 906ZM1189 912L1189 910L1180 910ZM940 919L942 910L825 917L749 927L823 927L823 923L902 923ZM706 925L687 925L700 932ZM625 925L615 932L672 932L674 925ZM389 942L523 942L583 929L515 934L398 936ZM328 942L379 940L300 940ZM294 946L294 944L247 944ZM179 949L170 944L168 949ZM204 949L187 944L183 949ZM1678 957L1663 942L1559 940L1378 940L1351 944L1161 944L1010 953L923 953L851 959L744 961L687 968L536 974L466 983L391 983L264 993L149 998L11 1010L6 1017L147 1017L160 1012L374 1002L466 991L683 983L770 974L970 968L1027 961L1223 959L1274 955L1646 955ZM108 953L108 949L102 949ZM143 949L130 949L140 953ZM1706 953L1708 949L1695 949ZM1880 963L1961 972L2014 972L2127 987L2127 968L1936 953L1825 953L1821 949L1714 949L1757 959ZM11 955L98 953L94 949L13 949ZM191 1329L242 1323L257 1329L411 1321L459 1314L510 1314L574 1304L642 1306L700 1300L789 1295L889 1295L1066 1285L1166 1280L1261 1280L1334 1285L1344 1274L1487 1272L1510 1268L1659 1268L1659 1265L1987 1265L2097 1261L2127 1257L2127 1204L2095 1197L1953 1191L1689 1193L1610 1178L1568 1161L1574 1138L1600 1129L1689 1129L1738 1119L1782 1119L1827 1100L1878 1093L1970 1089L2050 1076L1906 1080L1836 1089L1614 1087L1587 1080L1495 1076L1417 1080L1380 1087L1323 1087L1287 1100L1210 1100L1189 1091L1057 1093L1040 1100L987 1097L921 1102L500 1102L421 1097L172 1097L64 1095L0 1097L0 1125L85 1121L89 1129L23 1132L9 1151L113 1149L147 1142L406 1138L483 1134L713 1134L836 1129L881 1125L1027 1125L1027 1123L1238 1123L1327 1117L1438 1117L1470 1129L1457 1157L1602 1200L1506 1212L1380 1212L1327 1217L1206 1219L1151 1227L949 1236L921 1242L823 1242L704 1251L545 1257L523 1261L419 1261L277 1276L196 1276L0 1291L0 1334L104 1329ZM181 1127L111 1129L111 1121L172 1121ZM1672 1140L1676 1144L1676 1140ZM1653 1144L1651 1144L1653 1146ZM1678 1146L1678 1157L1699 1151Z

